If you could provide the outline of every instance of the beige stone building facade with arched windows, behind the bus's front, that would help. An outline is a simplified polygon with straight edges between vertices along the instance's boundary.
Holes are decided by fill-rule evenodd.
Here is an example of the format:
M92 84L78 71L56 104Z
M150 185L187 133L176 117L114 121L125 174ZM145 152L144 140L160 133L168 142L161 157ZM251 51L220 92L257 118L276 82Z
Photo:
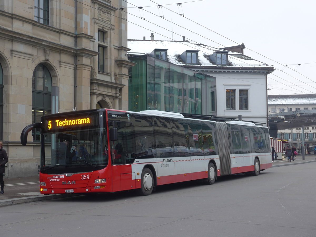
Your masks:
M128 109L127 21L123 0L0 1L0 139L5 177L38 174L42 115ZM123 15L122 15L123 13Z

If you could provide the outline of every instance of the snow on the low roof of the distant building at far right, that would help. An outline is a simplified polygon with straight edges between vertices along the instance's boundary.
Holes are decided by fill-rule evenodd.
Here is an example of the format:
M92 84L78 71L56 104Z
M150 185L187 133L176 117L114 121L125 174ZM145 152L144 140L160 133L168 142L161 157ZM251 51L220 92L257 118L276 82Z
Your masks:
M271 104L316 104L316 94L269 95L268 105Z

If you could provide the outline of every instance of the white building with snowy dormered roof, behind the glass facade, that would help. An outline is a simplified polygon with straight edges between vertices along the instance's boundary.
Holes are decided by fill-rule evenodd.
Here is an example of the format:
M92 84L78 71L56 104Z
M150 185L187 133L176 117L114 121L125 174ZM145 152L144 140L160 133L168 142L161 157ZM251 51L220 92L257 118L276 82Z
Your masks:
M154 40L152 36L151 40L128 40L128 48L131 49L128 53L131 61L132 57L135 60L153 58L155 64L157 60L166 61L211 76L213 80L201 81L202 114L236 119L241 115L242 120L268 125L267 75L274 68L244 55L244 44L215 48L194 44L184 37L182 41L163 41ZM135 79L134 76L133 82ZM161 88L163 86L168 87L166 84ZM164 97L157 98L163 100Z

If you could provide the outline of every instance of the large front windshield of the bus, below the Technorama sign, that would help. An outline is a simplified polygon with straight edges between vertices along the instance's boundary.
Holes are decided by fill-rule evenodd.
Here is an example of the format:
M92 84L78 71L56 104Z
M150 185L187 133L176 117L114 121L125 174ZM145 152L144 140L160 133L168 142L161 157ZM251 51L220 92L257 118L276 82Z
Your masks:
M42 134L45 143L41 173L89 172L106 167L108 155L103 129L83 129Z

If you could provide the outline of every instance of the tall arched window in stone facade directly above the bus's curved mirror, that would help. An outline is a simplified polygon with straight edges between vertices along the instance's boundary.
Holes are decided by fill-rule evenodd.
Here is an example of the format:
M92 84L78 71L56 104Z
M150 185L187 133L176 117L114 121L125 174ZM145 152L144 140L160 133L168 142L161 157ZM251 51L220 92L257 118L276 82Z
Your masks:
M39 123L43 115L52 113L52 76L45 65L39 64L33 72L32 123ZM32 131L33 141L40 141L40 129Z

